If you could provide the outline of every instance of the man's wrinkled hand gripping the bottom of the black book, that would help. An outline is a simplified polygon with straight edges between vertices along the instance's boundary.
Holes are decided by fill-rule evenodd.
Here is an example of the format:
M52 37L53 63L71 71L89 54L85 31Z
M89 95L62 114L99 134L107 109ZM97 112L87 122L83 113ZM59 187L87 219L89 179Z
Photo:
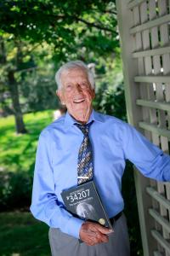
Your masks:
M93 246L101 242L109 241L107 235L109 235L111 232L113 232L113 230L109 230L100 224L87 221L82 224L80 230L80 239L89 246Z

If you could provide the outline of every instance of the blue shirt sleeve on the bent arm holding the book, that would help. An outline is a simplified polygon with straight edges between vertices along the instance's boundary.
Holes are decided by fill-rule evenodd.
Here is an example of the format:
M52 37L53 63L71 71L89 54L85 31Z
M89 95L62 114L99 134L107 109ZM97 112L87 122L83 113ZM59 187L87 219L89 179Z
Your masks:
M83 220L67 212L54 193L54 175L50 155L51 143L43 134L37 146L36 165L32 189L33 216L52 228L79 238Z

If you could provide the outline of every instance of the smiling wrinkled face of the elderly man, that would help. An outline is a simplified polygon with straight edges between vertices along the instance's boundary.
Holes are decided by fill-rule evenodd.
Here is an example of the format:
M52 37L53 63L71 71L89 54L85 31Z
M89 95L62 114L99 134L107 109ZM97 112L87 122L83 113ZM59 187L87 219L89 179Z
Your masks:
M68 112L82 124L88 122L92 112L94 90L82 68L72 68L61 74L62 88L57 91L60 101Z

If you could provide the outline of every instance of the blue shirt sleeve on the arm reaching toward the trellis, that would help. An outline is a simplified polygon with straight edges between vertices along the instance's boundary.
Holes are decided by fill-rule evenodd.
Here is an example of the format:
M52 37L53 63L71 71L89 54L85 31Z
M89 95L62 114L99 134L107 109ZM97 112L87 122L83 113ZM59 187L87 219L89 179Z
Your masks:
M123 132L124 152L126 159L143 173L158 181L170 181L170 156L136 131L131 125L126 125Z

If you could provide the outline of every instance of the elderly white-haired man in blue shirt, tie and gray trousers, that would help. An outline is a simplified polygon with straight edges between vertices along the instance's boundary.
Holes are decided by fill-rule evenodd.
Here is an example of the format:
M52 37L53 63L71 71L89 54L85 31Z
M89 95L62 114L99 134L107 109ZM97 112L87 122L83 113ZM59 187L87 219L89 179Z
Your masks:
M169 181L170 157L132 126L93 110L94 77L82 61L60 67L56 81L67 113L40 135L31 212L49 225L54 256L128 256L121 193L125 161L131 160L146 177ZM91 179L114 232L65 209L61 192Z

